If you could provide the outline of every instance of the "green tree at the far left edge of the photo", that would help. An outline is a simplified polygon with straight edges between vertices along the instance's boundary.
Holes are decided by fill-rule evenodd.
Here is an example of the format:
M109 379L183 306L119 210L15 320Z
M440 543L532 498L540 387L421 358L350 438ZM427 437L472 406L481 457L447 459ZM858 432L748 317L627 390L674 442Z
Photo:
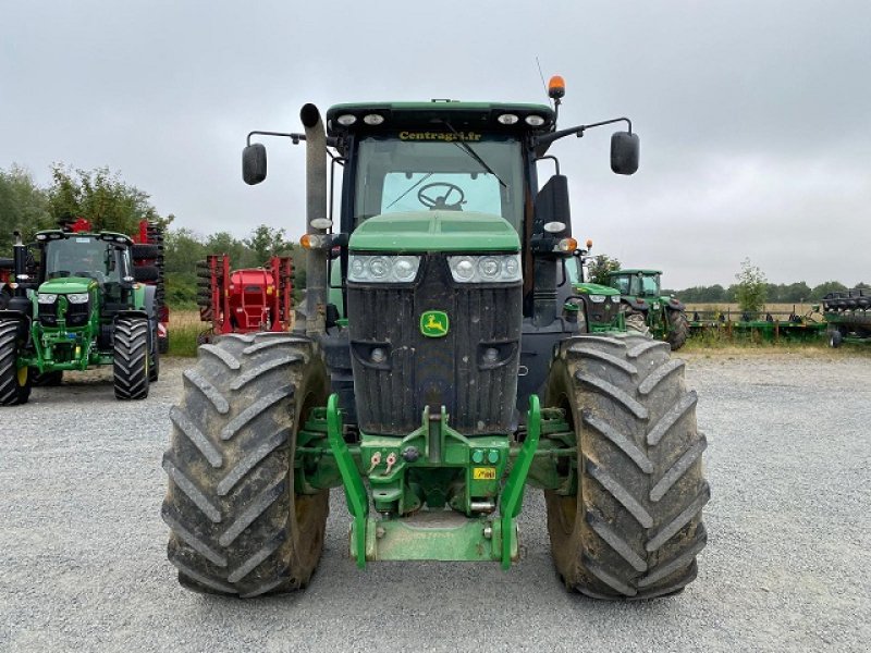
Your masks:
M28 242L40 229L54 222L49 211L46 192L39 188L25 169L13 165L0 170L0 252L8 256L12 233L19 231Z

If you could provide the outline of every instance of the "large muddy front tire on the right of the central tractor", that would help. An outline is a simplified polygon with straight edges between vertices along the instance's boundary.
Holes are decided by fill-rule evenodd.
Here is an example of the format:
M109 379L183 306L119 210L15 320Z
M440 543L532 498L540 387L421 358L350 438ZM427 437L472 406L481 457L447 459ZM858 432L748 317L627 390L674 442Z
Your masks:
M569 589L640 600L696 578L710 488L683 368L666 343L645 336L561 344L545 405L565 409L577 435L577 492L549 491L545 501L554 563Z

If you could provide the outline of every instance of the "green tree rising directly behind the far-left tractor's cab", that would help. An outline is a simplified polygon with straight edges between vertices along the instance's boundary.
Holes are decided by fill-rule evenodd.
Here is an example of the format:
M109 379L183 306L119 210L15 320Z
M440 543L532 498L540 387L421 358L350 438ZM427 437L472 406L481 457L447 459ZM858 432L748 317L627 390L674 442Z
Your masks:
M161 218L149 202L147 193L123 182L108 168L93 171L54 164L48 188L51 214L58 220L78 217L95 230L134 234L139 221L149 220L167 227L173 217Z

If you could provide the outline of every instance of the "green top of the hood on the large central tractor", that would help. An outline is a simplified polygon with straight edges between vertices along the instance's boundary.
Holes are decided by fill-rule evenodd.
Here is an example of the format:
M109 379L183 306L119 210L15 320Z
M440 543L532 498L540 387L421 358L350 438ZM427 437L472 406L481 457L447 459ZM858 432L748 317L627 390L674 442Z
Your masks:
M474 211L415 211L369 218L351 235L356 251L519 251L507 220Z

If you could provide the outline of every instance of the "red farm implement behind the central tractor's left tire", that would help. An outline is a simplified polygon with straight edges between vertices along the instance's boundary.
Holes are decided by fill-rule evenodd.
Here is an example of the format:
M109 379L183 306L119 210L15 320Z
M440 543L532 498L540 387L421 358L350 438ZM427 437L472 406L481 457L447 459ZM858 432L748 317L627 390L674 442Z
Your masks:
M273 256L262 268L231 270L230 257L197 262L199 318L211 322L200 342L226 333L287 331L291 328L293 262Z

